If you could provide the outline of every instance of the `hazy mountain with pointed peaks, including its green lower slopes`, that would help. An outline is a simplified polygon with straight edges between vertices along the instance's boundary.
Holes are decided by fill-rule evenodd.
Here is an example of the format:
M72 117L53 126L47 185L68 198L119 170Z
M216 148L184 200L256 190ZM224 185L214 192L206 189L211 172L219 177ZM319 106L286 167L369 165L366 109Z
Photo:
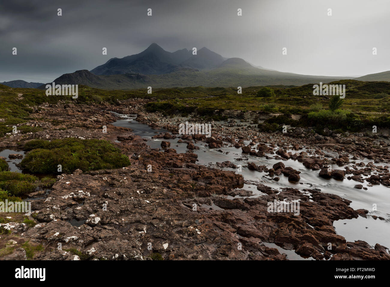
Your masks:
M164 87L249 87L304 85L331 82L348 77L325 77L284 73L253 66L241 58L224 58L206 47L167 52L156 43L146 50L112 58L91 71L79 70L54 80L56 84L79 84L100 89ZM349 77L351 78L351 77ZM44 88L44 85L40 87Z

